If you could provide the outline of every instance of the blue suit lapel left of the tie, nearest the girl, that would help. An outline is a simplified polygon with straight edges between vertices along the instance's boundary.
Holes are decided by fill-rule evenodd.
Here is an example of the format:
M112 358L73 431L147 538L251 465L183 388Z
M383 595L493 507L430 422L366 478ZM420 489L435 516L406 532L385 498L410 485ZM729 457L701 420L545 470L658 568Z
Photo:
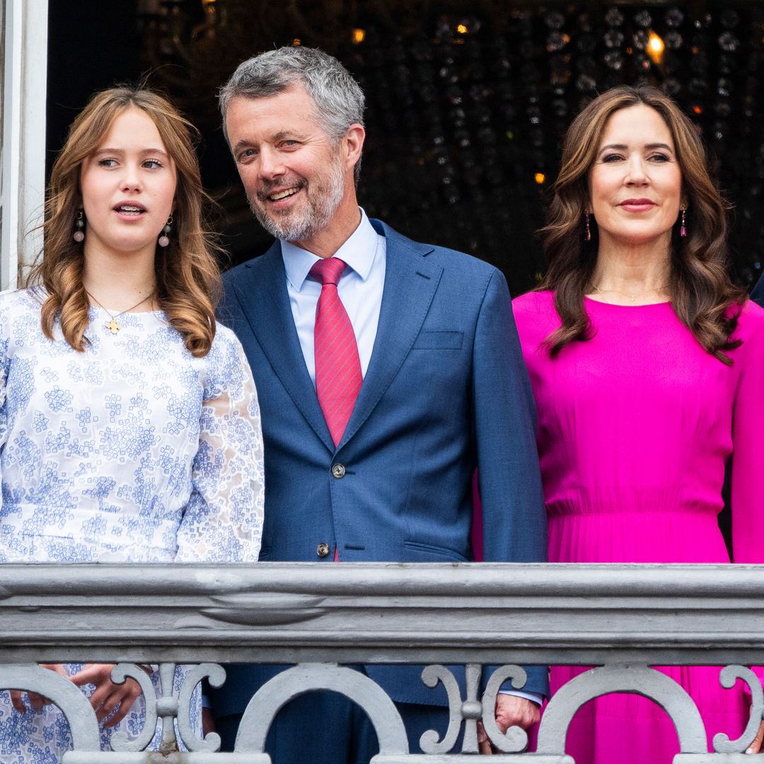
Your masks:
M233 283L244 315L286 392L329 451L335 452L332 436L316 398L299 346L286 292L286 272L281 246L274 244L262 257L242 269Z

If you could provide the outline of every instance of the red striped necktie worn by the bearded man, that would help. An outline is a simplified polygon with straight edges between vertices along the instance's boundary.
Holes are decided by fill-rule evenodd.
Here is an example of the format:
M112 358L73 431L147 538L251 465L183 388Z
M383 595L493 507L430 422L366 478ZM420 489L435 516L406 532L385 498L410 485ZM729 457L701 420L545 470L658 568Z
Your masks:
M322 284L313 330L316 394L335 445L342 440L363 382L353 325L337 293L345 267L337 257L326 257L310 269L310 275Z

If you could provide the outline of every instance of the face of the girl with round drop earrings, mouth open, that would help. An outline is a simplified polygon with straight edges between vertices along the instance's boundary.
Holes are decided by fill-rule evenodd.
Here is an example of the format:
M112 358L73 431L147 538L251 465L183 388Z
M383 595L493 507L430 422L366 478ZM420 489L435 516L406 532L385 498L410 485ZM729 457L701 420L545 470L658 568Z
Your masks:
M83 161L86 254L153 257L175 187L175 163L154 121L139 108L125 109Z

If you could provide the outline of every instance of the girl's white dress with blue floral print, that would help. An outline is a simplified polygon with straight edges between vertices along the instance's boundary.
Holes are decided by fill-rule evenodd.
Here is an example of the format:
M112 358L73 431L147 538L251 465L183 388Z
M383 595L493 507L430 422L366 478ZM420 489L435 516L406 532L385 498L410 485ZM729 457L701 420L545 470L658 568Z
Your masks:
M257 560L260 410L235 335L219 326L194 358L162 312L122 314L112 335L93 307L78 352L58 326L45 337L42 299L0 294L0 562ZM104 749L143 717L138 698ZM69 748L57 708L18 714L0 691L0 762L53 764Z

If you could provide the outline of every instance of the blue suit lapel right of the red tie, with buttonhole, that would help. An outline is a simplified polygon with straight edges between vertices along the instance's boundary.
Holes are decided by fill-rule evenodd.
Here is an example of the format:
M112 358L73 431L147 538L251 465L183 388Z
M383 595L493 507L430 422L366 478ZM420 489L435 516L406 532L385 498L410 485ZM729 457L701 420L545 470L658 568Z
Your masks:
M422 329L443 270L425 257L432 247L416 244L378 221L373 221L373 225L384 235L387 247L380 320L364 384L340 448L368 419L406 360Z

